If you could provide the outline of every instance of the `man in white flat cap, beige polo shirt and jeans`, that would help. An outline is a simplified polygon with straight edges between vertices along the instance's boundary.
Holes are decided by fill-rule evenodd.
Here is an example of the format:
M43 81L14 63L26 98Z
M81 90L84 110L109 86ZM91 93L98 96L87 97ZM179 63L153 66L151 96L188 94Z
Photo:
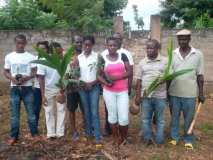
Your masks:
M170 144L177 145L180 140L179 122L183 112L185 147L193 149L193 135L188 135L187 130L193 120L196 98L204 103L204 58L201 51L193 48L189 42L191 31L183 29L176 33L179 47L174 50L172 69L176 72L182 69L193 69L192 72L172 80L169 86L170 105L172 109Z

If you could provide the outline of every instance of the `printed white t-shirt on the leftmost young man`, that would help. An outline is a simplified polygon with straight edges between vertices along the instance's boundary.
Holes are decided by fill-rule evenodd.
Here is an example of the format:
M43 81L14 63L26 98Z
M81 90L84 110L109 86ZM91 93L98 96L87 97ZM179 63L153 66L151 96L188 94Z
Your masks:
M31 69L36 67L36 65L30 62L35 59L36 57L29 52L11 52L5 57L4 69L10 70L10 73L13 77L15 77L17 74L21 74L23 76L30 76ZM16 85L11 82L11 86ZM26 81L21 86L32 86L32 79Z

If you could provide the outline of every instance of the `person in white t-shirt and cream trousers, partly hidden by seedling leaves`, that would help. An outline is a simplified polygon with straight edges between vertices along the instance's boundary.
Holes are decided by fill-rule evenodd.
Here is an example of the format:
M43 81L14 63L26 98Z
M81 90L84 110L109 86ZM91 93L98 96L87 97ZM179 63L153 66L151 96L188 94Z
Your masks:
M52 47L56 52L62 55L62 48L59 43L52 42ZM63 94L63 91L56 86L60 76L57 70L44 65L38 65L37 75L39 77L42 103L45 110L47 138L63 137L65 127L65 103L59 103L56 100L58 95ZM55 105L57 117L55 117L54 114ZM55 119L57 119L56 124Z

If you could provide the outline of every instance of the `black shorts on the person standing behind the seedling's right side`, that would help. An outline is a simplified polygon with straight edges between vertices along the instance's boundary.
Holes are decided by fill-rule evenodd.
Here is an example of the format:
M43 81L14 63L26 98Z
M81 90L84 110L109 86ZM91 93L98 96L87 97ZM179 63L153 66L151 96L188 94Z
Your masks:
M83 106L81 104L81 98L78 92L70 92L67 94L67 108L70 112L75 112L80 106L81 112L83 113Z

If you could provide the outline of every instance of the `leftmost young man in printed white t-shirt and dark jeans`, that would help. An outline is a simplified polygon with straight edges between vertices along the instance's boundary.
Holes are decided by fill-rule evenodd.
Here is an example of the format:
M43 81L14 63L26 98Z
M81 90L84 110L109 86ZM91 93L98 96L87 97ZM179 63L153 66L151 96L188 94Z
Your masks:
M4 64L4 75L11 81L10 108L11 108L11 130L9 145L14 145L18 140L21 100L27 111L28 125L32 139L38 134L36 117L33 111L32 78L36 67L30 62L36 57L25 51L26 37L19 34L15 37L16 51L6 55Z

